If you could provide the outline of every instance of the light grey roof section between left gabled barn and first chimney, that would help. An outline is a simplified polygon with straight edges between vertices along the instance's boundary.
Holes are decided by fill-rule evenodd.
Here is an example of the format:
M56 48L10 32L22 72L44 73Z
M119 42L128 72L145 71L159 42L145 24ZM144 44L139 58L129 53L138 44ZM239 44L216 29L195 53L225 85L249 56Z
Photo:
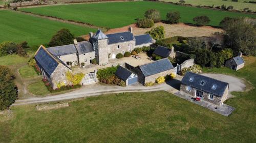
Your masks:
M47 50L55 56L76 53L76 47L74 44L50 47L50 48L47 48Z

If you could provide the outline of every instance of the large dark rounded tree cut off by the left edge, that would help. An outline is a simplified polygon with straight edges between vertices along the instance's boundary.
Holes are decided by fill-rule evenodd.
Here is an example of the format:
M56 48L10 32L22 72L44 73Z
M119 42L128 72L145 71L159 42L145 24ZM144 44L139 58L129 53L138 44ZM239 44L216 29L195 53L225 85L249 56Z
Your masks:
M7 109L17 99L14 75L5 66L0 66L0 110Z

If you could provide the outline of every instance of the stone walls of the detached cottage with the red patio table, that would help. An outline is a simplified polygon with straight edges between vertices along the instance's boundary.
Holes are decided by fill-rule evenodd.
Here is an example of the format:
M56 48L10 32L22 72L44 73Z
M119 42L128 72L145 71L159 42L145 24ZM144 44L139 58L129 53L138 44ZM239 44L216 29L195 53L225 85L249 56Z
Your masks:
M187 85L181 83L180 91L190 95L191 97L196 97L197 89L194 89L193 87L191 87L190 91L187 91L186 89L187 89ZM226 88L224 95L222 97L214 95L213 100L209 99L209 93L203 92L202 100L210 102L212 104L221 105L221 103L223 103L227 99L227 95L228 95L228 87Z

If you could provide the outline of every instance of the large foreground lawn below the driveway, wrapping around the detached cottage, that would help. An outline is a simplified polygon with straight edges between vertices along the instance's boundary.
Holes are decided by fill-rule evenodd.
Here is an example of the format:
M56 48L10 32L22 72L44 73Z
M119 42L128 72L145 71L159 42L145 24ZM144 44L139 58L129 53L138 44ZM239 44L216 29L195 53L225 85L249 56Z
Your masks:
M237 72L203 70L238 76L255 87L256 58L245 60ZM225 102L236 108L229 117L167 92L89 97L47 111L14 106L12 119L0 121L0 142L253 142L255 93L234 93L236 97Z

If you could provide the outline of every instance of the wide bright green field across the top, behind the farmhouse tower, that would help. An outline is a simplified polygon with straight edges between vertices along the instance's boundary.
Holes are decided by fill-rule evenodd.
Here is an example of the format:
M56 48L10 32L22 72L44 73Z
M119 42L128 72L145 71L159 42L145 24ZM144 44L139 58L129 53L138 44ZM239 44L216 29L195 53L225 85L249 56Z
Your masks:
M244 13L234 13L145 1L72 4L49 7L24 8L20 10L46 16L55 16L66 20L87 22L97 26L116 28L135 23L136 19L143 17L144 12L148 9L159 10L161 13L161 18L163 20L166 18L165 16L167 12L179 11L181 14L180 21L187 23L194 23L193 18L195 16L207 15L211 20L209 25L214 26L218 26L219 22L225 16L256 17L256 15Z

